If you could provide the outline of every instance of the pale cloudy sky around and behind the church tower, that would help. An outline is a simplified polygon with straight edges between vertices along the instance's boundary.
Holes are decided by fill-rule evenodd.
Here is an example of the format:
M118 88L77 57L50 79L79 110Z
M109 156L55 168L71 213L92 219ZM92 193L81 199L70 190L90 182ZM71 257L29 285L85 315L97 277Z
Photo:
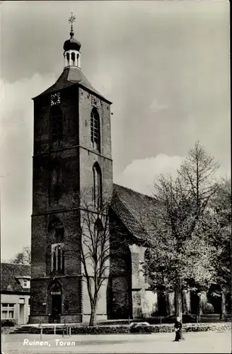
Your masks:
M112 104L114 181L151 193L197 139L230 173L228 1L4 1L1 257L30 246L33 101L63 70L76 15L82 70Z

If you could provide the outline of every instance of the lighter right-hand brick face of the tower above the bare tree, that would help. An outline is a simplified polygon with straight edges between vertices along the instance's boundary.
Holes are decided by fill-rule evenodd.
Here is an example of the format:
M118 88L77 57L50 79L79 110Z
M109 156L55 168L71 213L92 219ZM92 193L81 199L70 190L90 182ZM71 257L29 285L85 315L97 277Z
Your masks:
M85 202L93 199L93 164L98 162L103 179L103 195L108 200L112 195L112 160L110 104L79 89L79 138L80 138L80 191ZM97 99L100 118L100 152L91 147L91 110L93 98Z

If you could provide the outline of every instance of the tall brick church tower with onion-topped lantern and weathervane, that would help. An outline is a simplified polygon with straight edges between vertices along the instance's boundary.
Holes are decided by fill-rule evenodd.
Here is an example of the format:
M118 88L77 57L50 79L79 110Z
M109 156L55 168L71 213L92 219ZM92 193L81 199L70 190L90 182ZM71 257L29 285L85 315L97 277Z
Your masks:
M69 19L71 33L64 42L62 74L33 98L31 324L88 318L88 295L81 276L79 196L94 204L112 194L111 103L81 70L74 19ZM104 296L97 312L103 319Z

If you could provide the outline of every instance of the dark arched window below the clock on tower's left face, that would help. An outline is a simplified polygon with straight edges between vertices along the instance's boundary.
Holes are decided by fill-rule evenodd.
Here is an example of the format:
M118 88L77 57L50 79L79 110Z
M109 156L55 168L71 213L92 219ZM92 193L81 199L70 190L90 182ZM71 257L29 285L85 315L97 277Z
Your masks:
M63 139L63 113L62 109L58 105L52 105L51 107L51 135L52 142L56 142L58 145Z

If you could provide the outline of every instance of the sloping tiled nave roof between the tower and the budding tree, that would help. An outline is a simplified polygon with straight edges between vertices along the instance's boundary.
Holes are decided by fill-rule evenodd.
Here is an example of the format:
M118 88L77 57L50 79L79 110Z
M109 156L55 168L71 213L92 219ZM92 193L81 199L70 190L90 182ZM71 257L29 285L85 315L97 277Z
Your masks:
M128 231L144 240L151 234L151 220L155 199L114 183L112 210Z

